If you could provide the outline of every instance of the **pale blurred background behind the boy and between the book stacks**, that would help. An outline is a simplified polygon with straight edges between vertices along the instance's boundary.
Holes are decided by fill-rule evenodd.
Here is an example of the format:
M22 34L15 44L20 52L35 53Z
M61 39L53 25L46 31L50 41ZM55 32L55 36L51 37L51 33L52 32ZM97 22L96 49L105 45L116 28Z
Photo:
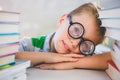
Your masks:
M0 10L20 13L19 30L23 37L53 32L62 14L69 13L86 2L112 7L117 1L119 0L0 0Z

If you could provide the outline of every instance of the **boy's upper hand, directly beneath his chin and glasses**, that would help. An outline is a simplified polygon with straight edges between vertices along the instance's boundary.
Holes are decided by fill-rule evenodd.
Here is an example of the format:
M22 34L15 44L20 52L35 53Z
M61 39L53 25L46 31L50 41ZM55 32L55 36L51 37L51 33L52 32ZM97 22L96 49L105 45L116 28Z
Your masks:
M58 62L74 62L78 61L78 58L84 57L80 54L55 54L50 53L49 56L44 59L44 63L58 63Z

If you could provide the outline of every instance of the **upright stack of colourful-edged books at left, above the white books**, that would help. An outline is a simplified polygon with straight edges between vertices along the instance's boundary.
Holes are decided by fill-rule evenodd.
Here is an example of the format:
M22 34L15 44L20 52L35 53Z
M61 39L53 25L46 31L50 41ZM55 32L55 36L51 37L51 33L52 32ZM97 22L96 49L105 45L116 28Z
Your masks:
M19 41L19 13L0 11L0 69L15 64Z

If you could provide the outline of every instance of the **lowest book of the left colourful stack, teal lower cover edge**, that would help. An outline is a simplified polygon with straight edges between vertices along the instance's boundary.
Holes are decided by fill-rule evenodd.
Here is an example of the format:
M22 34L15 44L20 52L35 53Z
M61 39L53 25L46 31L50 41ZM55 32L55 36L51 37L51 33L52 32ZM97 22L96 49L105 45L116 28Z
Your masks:
M15 62L15 54L0 57L0 68Z

